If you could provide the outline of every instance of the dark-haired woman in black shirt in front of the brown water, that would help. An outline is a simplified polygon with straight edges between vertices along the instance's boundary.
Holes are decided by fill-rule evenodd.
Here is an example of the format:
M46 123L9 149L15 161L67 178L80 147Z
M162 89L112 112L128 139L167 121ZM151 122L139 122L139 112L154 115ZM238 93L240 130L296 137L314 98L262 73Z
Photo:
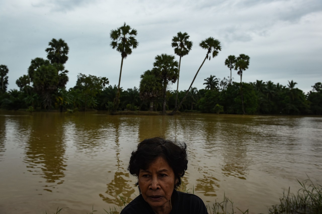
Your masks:
M204 202L196 195L179 192L187 170L186 144L160 137L145 139L132 152L128 171L137 177L141 193L121 214L207 214Z

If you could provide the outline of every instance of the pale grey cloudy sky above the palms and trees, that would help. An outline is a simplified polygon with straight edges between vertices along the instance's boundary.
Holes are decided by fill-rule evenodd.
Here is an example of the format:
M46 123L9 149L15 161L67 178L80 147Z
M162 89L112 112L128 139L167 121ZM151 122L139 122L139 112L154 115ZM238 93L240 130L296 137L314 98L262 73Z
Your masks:
M9 68L8 89L18 88L15 81L27 74L31 59L46 58L52 38L70 48L67 89L79 73L117 85L121 56L109 46L109 33L124 22L137 30L139 45L124 61L123 89L139 86L156 55L175 55L171 40L179 31L193 42L181 61L179 90L188 89L206 55L199 43L208 37L218 39L222 51L204 63L193 85L198 89L210 75L230 76L225 59L242 53L250 56L244 82L293 80L304 92L322 82L321 0L2 0L0 64ZM240 81L237 71L232 77Z

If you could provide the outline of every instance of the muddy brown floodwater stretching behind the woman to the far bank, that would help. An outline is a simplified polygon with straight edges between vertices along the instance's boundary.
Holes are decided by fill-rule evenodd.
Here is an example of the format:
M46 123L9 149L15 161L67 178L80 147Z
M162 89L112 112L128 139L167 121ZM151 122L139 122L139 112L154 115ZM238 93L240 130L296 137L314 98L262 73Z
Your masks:
M1 111L0 213L120 211L139 194L126 170L132 149L162 135L186 142L182 191L206 205L225 195L268 213L297 180L322 184L322 117Z

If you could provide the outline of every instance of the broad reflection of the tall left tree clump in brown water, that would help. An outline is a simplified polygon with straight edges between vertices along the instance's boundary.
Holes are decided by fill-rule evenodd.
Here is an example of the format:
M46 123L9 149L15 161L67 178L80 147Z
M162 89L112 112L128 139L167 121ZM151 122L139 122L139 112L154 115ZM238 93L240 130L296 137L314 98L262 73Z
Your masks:
M62 118L59 115L42 113L38 114L35 119L38 123L32 124L24 161L29 164L27 165L28 171L42 175L47 183L55 183L65 177L64 171L67 166L64 158Z

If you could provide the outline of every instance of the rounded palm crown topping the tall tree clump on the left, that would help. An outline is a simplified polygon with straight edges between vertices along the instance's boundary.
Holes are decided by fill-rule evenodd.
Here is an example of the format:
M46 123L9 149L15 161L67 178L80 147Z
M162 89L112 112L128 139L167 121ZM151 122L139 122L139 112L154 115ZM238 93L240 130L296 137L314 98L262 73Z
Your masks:
M69 47L67 43L62 40L52 39L49 43L50 48L47 48L47 58L50 60L50 63L65 64L68 60L68 51Z

